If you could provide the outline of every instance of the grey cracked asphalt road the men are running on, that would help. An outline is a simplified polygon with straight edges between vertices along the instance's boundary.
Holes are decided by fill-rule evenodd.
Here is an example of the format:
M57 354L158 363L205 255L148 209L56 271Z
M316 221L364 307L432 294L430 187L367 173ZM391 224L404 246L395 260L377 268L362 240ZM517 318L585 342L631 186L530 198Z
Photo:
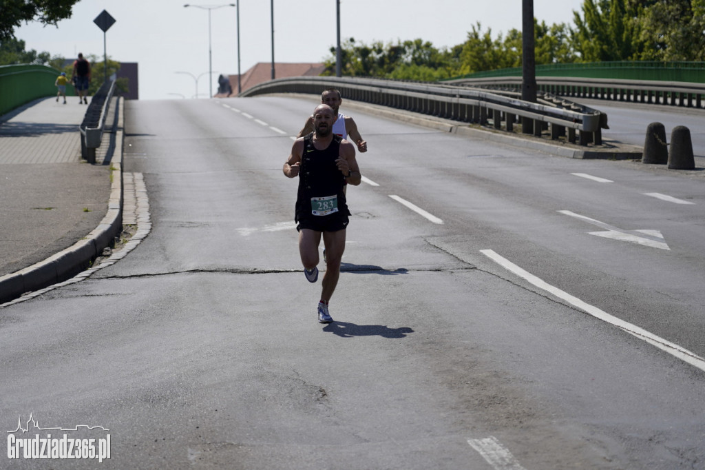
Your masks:
M99 468L705 468L701 176L350 112L367 180L319 325L281 172L314 104L126 104L152 232L0 311L7 430L108 428Z

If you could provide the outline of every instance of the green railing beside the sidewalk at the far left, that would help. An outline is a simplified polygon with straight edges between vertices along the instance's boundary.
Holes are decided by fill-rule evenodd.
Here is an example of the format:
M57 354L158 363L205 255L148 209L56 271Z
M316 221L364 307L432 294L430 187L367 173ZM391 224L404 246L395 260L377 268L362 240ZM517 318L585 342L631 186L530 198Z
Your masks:
M42 65L0 66L0 115L37 98L56 95L56 77L61 72ZM73 95L73 87L66 87Z

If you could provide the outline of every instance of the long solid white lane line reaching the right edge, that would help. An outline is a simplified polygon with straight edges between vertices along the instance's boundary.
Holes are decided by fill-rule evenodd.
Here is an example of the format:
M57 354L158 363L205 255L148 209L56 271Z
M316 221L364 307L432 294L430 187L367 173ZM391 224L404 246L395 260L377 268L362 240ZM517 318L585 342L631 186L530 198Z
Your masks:
M564 301L570 303L570 305L579 308L588 315L592 315L593 317L598 318L603 322L621 328L630 335L634 335L639 339L643 339L644 341L654 345L658 349L666 351L668 354L679 358L681 361L689 363L691 366L697 367L700 370L705 370L704 358L701 358L697 354L678 346L678 344L672 343L666 339L658 337L654 335L654 333L644 330L642 327L638 327L637 325L632 325L632 323L627 323L624 320L620 320L619 318L610 315L605 311L601 311L599 308L591 306L589 303L586 303L578 299L577 297L568 294L568 292L558 289L558 287L553 287L551 284L548 284L544 280L539 279L539 277L536 277L530 272L523 270L521 267L515 265L506 258L503 258L501 255L498 255L492 250L480 250L480 253L485 255L487 258L490 258L501 267L504 267L505 270L513 272L515 275L526 279L529 283L533 284L539 289L553 294L554 296L558 297L558 299L563 299Z

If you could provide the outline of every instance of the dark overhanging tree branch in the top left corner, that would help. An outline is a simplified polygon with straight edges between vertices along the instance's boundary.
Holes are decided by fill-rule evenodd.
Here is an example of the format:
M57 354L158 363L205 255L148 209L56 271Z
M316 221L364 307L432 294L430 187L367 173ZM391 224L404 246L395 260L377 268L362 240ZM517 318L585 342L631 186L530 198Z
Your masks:
M0 42L15 37L15 28L23 21L40 21L56 25L59 20L71 18L73 5L79 0L1 0Z

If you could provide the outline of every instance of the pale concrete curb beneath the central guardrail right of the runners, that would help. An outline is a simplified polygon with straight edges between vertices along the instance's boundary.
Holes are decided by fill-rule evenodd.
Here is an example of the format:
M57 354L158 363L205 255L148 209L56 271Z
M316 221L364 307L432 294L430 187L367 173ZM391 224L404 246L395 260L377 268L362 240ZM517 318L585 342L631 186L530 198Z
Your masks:
M308 100L312 100L312 102L316 104L320 103L317 95L303 95L300 93L277 93L273 96L306 98ZM316 104L314 104L313 106L315 107ZM403 121L411 124L416 124L417 126L424 126L432 129L437 129L443 132L464 135L466 137L491 140L492 142L513 145L515 147L530 148L532 150L538 150L539 152L557 155L558 157L568 157L576 159L641 159L643 152L642 147L638 147L637 145L627 145L623 143L611 144L606 142L609 147L597 149L557 143L555 141L546 140L543 138L534 138L533 136L529 135L510 135L508 133L504 133L503 131L495 131L494 129L489 128L480 128L478 126L471 126L470 124L458 123L458 121L450 121L449 119L434 118L432 116L427 116L426 114L402 111L400 109L388 108L376 104L356 102L353 100L343 100L343 108L360 109L362 111L368 112L370 109L373 109L374 114L390 119L395 119L396 121Z

